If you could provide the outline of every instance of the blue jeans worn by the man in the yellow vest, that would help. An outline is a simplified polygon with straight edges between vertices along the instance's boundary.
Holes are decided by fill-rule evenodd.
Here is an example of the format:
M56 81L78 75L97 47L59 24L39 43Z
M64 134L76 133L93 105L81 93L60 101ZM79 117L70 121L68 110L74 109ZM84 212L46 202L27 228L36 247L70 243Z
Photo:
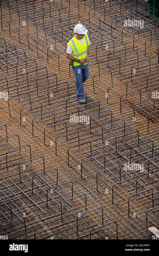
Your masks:
M75 83L77 86L77 93L76 96L79 99L84 98L84 88L83 83L87 80L89 77L89 68L88 63L86 65L78 65L78 66L72 66L74 75L75 75Z

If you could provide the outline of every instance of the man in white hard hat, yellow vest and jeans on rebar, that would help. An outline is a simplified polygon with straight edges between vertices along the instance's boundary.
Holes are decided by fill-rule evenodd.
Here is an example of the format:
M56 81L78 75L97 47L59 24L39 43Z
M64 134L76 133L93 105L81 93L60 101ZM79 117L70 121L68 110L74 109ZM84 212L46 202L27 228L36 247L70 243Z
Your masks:
M85 103L83 83L89 77L88 60L91 42L88 38L88 30L82 24L77 24L73 32L76 34L67 43L66 58L71 61L74 71L74 82L77 86L76 96L80 103Z

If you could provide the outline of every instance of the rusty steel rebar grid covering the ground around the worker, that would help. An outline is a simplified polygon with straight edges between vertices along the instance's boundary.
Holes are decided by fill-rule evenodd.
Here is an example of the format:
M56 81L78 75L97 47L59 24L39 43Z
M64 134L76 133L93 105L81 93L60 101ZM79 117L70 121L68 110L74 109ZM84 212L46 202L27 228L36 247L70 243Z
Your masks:
M100 95L87 93L83 106L74 96L64 54L82 12L92 43L89 87L99 95L109 77L110 108ZM143 1L8 1L1 13L0 88L9 98L2 113L18 134L27 132L21 146L8 124L0 126L2 230L10 239L123 239L123 230L145 239L158 225L158 145L151 139L158 129L158 94L151 97L158 92L158 20ZM125 19L144 19L145 27L123 28ZM144 136L116 115L133 116L133 107L147 125ZM41 154L28 145L33 139Z

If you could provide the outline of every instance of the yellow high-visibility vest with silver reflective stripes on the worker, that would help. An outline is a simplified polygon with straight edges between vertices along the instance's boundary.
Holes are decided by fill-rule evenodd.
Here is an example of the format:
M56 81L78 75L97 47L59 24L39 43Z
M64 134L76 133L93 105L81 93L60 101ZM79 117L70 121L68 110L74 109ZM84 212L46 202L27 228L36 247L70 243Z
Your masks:
M73 52L71 56L79 60L85 60L87 56L88 46L89 46L89 39L88 34L86 33L83 38L83 45L74 37L67 43L67 45L71 46ZM85 62L86 65L88 62ZM73 66L81 65L79 62L73 61Z

